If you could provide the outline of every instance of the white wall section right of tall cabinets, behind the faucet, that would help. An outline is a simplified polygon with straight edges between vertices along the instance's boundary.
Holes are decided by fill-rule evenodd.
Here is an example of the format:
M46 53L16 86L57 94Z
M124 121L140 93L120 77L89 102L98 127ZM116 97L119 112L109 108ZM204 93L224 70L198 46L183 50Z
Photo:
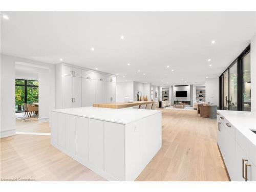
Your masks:
M124 97L134 98L133 81L116 83L116 101L124 102Z

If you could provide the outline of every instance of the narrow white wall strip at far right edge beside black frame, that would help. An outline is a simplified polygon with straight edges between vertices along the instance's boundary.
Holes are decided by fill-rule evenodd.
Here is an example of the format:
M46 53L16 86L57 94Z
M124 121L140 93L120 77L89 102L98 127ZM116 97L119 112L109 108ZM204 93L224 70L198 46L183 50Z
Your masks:
M256 109L256 34L251 38L251 108Z

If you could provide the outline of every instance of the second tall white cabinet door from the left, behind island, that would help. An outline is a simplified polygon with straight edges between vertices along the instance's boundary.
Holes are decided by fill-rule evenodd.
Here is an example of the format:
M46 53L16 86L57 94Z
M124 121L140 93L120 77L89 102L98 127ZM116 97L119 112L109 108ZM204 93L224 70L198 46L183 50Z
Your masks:
M82 106L82 79L80 77L73 77L73 108Z

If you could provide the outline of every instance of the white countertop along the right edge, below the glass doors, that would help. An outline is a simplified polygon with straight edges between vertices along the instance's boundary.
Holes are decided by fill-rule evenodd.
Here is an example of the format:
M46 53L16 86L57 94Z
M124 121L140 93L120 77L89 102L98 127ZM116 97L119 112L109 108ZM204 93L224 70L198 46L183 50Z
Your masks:
M256 111L226 111L217 110L223 115L236 129L238 129L247 139L256 146Z

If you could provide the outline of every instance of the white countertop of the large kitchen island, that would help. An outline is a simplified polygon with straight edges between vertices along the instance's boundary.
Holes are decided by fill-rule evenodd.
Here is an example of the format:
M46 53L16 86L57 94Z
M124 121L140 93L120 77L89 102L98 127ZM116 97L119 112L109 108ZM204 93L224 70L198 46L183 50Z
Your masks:
M109 109L109 108L94 108L93 106L87 106L83 108L70 108L52 110L53 112L65 113L69 115L76 115L81 117L87 117L92 119L99 119L103 121L110 121L121 124L128 124L139 119L161 113L158 110L140 110L133 108L123 109Z

